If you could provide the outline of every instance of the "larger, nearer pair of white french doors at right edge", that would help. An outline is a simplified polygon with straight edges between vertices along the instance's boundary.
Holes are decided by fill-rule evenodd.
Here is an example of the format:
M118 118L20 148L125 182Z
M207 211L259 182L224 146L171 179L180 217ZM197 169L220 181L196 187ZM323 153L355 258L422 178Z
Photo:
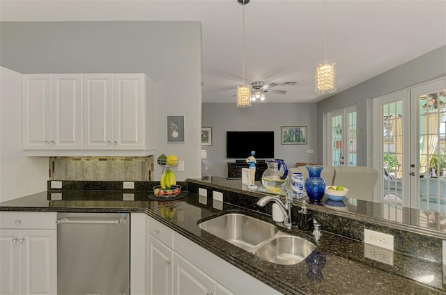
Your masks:
M440 79L374 99L376 201L445 211L445 88Z

